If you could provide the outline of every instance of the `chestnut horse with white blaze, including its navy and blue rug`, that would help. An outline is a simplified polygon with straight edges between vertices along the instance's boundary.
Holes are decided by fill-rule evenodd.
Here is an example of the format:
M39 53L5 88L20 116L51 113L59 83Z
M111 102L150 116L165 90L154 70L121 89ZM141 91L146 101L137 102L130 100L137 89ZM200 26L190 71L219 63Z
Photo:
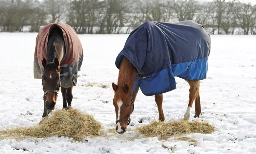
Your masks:
M189 120L194 100L194 118L199 117L200 80L206 78L210 44L203 26L192 21L148 21L132 31L116 59L117 85L112 83L117 133L124 133L131 122L139 88L144 95L155 96L159 120L164 121L162 93L176 89L175 76L185 79L190 86L183 119Z

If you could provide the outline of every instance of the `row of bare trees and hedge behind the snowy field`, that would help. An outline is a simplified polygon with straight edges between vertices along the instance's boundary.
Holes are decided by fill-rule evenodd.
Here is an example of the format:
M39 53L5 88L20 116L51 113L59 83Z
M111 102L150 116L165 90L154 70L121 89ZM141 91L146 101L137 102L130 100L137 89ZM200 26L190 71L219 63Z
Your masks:
M0 31L52 22L79 34L129 33L145 21L194 20L210 34L256 34L256 5L239 0L0 0Z

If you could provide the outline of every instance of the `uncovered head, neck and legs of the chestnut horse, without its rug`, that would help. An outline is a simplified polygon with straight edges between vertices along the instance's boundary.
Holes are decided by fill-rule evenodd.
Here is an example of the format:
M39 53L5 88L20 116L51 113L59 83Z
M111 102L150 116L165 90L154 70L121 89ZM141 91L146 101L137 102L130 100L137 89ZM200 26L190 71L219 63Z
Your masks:
M113 105L116 110L116 118L117 118L117 126L116 131L119 134L122 134L126 131L127 125L130 123L130 115L134 110L134 102L136 99L136 95L139 91L139 86L136 89L136 92L132 94L132 88L135 83L135 79L138 72L136 68L131 64L131 62L123 56L120 66L119 66L119 74L117 85L112 83L112 87L115 91ZM200 96L199 96L199 80L197 81L188 81L186 80L190 86L189 89L189 103L187 107L187 111L184 115L184 120L188 120L190 118L190 109L195 100L196 104L196 114L195 118L199 117L201 113L201 105L200 105ZM155 102L158 107L159 120L164 121L162 102L163 95L158 94L155 95Z

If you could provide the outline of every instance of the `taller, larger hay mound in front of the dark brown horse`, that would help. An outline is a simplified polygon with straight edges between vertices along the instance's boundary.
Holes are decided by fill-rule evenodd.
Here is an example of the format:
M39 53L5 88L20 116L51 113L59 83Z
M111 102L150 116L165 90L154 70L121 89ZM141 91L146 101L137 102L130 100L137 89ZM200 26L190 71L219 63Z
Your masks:
M65 136L81 141L86 136L101 136L102 126L93 116L82 113L77 109L56 110L50 118L45 118L34 127L17 127L0 131L0 135L21 135L46 138L50 136Z

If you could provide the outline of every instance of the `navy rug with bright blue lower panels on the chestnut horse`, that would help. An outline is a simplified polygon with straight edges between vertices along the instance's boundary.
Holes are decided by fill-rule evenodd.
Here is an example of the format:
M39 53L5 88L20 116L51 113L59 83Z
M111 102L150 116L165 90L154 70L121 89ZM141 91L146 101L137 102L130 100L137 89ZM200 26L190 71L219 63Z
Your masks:
M176 89L175 76L205 79L210 46L210 35L193 21L148 21L131 32L116 66L127 57L138 71L133 92L139 86L144 95L156 95Z

